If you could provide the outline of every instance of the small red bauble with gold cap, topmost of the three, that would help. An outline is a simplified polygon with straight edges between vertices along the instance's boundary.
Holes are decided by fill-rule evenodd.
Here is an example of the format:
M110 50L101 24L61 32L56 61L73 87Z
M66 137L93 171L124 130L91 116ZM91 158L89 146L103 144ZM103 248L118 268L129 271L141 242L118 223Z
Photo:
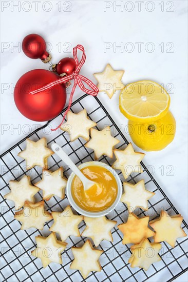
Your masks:
M42 59L42 61L49 62L51 59L50 54L46 51L46 42L39 34L29 34L22 42L22 50L32 59Z

